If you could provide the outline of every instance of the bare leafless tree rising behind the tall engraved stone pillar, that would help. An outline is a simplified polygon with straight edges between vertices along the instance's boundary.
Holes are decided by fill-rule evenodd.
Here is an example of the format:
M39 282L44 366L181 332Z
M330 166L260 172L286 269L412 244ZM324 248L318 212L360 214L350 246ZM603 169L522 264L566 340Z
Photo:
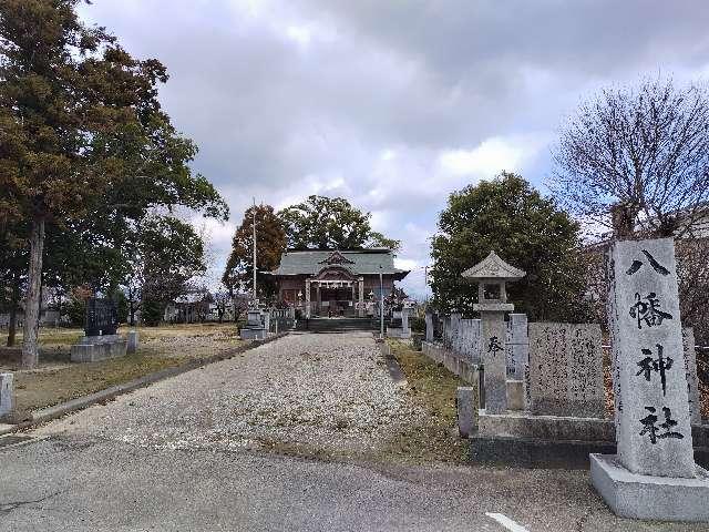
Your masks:
M565 124L554 160L552 187L586 221L610 227L614 218L617 227L621 218L647 235L682 236L707 215L707 89L606 89Z

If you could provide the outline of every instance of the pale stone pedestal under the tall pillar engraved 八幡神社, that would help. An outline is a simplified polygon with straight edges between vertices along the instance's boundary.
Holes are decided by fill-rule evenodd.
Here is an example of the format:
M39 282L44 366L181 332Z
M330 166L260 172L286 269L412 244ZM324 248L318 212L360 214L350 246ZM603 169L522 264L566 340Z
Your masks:
M594 488L617 515L659 521L709 521L709 472L693 479L635 474L615 454L590 454Z

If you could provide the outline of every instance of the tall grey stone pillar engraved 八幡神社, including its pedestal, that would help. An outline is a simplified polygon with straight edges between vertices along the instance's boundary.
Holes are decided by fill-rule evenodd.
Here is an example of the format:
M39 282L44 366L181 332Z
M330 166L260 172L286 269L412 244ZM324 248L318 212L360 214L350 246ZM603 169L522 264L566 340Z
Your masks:
M709 473L695 463L675 244L616 242L608 326L617 454L590 454L594 487L615 513L709 520Z

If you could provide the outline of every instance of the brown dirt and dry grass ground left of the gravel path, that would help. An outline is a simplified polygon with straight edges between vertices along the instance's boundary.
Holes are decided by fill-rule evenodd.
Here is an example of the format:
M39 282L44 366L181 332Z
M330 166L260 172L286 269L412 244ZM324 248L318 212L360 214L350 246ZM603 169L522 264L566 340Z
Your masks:
M0 351L0 371L14 372L19 410L58 405L131 381L162 369L182 366L212 356L227 356L243 345L233 324L140 327L140 348L134 355L101 362L72 364L70 348L81 329L40 331L40 365L35 370L19 370L19 348ZM119 334L125 334L126 328ZM22 337L18 338L22 341Z

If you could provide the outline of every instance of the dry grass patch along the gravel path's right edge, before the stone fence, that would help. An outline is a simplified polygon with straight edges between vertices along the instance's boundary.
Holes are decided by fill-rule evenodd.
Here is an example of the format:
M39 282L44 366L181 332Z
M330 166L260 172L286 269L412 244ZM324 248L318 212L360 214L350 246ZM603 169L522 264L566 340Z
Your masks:
M471 385L407 344L390 340L390 346L408 393L427 416L394 434L386 452L403 462L464 462L467 446L458 436L455 396L459 386Z

